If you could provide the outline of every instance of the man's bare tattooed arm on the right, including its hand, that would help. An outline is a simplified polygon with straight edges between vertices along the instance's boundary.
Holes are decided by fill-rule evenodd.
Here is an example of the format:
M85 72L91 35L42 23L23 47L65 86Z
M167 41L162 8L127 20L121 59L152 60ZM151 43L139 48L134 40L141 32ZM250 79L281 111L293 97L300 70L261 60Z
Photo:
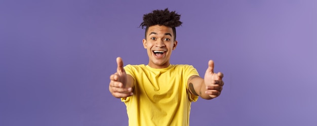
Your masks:
M209 60L208 69L205 73L205 78L199 76L189 77L187 84L189 91L204 99L213 99L220 95L223 86L223 74L214 73L214 62Z

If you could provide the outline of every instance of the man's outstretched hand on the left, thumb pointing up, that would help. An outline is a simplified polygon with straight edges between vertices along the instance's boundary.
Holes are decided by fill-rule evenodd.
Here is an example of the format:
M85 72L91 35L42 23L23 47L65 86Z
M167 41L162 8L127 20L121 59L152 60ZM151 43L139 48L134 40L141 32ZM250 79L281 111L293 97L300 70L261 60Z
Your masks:
M127 73L123 68L121 57L116 58L116 73L110 76L109 91L116 98L124 98L133 95L131 86L127 85Z

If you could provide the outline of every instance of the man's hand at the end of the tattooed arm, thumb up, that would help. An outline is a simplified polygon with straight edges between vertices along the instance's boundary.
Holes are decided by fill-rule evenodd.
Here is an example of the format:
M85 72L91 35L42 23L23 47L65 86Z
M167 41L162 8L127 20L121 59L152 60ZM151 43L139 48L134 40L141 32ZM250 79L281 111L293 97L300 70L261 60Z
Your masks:
M214 73L214 61L209 60L204 81L207 89L205 93L211 98L215 98L220 95L222 86L224 85L222 78L223 74L221 72Z

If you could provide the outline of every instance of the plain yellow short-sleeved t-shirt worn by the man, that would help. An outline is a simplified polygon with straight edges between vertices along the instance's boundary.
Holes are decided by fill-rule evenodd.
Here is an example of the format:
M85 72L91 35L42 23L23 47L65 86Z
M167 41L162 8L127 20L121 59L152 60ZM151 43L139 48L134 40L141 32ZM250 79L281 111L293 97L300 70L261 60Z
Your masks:
M189 125L190 104L198 96L189 92L187 80L199 76L195 68L127 65L124 69L134 79L133 96L121 99L127 106L129 125Z

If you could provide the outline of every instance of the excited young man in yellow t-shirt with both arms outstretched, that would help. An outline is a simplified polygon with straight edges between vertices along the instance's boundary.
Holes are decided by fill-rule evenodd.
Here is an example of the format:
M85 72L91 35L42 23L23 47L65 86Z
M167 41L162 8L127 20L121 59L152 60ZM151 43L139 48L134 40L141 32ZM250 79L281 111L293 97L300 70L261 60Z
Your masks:
M127 106L129 125L189 125L191 102L200 96L213 99L220 95L222 73L214 73L209 60L205 77L189 65L171 65L170 56L177 46L176 27L180 15L168 9L143 16L146 27L143 46L147 65L127 65L116 58L117 72L110 76L109 91Z

